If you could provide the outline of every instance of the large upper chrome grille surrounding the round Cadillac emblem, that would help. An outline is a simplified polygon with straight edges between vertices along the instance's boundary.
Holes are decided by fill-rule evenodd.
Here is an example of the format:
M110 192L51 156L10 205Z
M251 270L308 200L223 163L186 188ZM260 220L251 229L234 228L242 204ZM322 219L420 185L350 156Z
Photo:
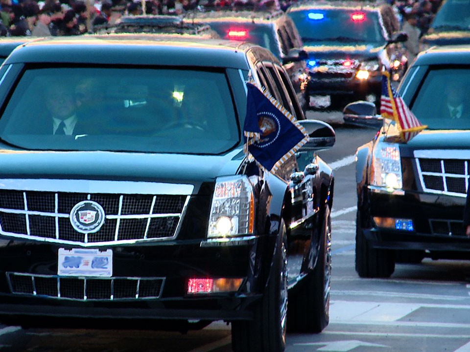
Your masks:
M112 184L94 182L107 188L111 188L108 183ZM128 183L133 188L145 184L142 188L147 191L152 187L148 182ZM171 239L176 237L189 200L189 196L182 193L192 186L164 185L166 188L154 187L164 194L153 195L0 189L0 234L81 246ZM176 193L167 194L172 190ZM104 224L95 233L80 233L72 227L71 210L83 200L97 202L104 209Z

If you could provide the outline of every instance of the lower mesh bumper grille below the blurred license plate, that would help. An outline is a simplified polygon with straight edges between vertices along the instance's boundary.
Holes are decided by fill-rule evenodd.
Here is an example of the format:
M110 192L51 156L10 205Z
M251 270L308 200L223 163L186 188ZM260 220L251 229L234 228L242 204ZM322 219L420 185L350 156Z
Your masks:
M164 278L83 278L7 272L11 293L72 300L160 298Z

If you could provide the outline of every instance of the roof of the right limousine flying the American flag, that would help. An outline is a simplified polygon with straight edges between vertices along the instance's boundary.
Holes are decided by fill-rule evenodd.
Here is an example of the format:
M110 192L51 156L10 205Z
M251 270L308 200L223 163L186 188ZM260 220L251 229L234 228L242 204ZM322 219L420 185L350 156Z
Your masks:
M469 65L470 44L433 46L418 55L416 65Z

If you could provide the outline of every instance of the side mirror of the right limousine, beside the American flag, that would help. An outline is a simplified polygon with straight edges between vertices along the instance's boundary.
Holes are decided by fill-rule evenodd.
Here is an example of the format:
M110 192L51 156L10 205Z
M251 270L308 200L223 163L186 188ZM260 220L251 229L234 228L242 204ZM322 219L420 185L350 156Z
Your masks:
M383 118L377 115L376 105L367 101L349 103L343 109L345 124L367 127L379 130L383 124Z

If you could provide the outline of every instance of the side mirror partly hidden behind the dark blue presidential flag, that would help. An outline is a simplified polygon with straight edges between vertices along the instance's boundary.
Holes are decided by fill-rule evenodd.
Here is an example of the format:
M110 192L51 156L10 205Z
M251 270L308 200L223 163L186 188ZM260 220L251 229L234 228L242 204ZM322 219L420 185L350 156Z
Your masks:
M336 142L336 133L326 122L320 120L300 120L299 123L308 133L308 142L302 146L300 152L329 149Z

